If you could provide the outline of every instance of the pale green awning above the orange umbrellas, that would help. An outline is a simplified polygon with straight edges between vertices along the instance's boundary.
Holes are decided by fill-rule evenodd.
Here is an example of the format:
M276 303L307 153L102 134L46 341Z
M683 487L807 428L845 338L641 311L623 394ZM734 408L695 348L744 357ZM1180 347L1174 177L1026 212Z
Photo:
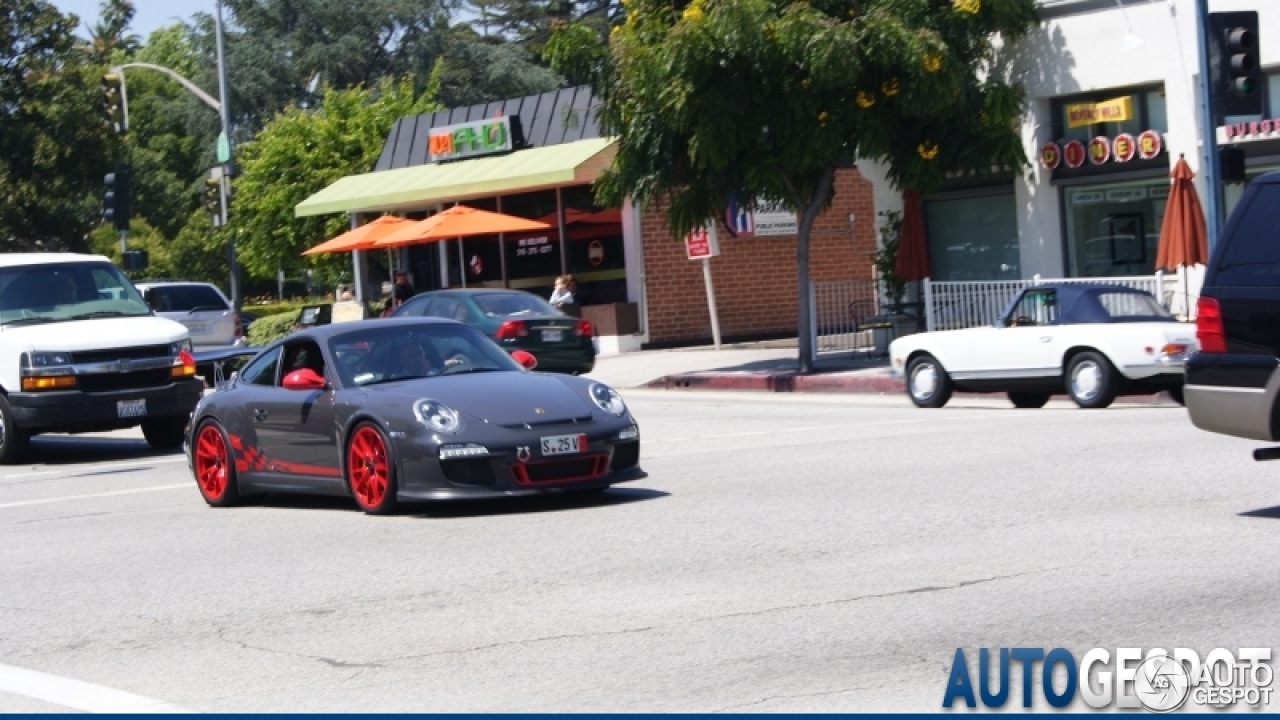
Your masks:
M613 160L613 140L594 138L439 165L348 176L293 209L328 213L424 209L433 202L589 183Z

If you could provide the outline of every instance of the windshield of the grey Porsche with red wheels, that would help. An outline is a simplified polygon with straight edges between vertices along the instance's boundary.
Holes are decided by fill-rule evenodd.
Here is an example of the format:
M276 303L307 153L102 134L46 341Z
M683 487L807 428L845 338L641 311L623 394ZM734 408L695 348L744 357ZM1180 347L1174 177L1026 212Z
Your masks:
M329 351L344 387L521 370L492 340L453 323L371 324L330 338Z

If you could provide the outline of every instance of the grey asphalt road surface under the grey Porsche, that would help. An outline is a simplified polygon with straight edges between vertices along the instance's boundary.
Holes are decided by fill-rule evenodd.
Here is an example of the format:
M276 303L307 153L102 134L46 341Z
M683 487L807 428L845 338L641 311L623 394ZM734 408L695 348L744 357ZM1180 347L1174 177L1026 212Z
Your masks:
M0 711L936 711L957 647L1280 638L1280 462L1181 409L625 395L646 479L393 518L37 439Z

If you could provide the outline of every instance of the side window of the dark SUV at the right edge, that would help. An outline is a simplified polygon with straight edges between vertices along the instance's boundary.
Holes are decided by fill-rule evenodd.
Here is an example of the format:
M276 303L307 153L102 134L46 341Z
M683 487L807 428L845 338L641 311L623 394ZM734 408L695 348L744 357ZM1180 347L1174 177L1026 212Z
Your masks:
M1280 286L1280 184L1258 186L1239 213L1215 284Z

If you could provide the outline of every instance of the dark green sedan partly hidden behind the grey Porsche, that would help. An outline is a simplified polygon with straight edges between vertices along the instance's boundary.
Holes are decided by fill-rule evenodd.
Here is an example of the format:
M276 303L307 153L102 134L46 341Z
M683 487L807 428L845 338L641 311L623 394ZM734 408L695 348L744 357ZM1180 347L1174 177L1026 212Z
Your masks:
M591 323L564 315L549 302L520 290L438 290L415 295L393 318L458 320L492 337L507 352L524 350L538 369L590 373L595 366Z

